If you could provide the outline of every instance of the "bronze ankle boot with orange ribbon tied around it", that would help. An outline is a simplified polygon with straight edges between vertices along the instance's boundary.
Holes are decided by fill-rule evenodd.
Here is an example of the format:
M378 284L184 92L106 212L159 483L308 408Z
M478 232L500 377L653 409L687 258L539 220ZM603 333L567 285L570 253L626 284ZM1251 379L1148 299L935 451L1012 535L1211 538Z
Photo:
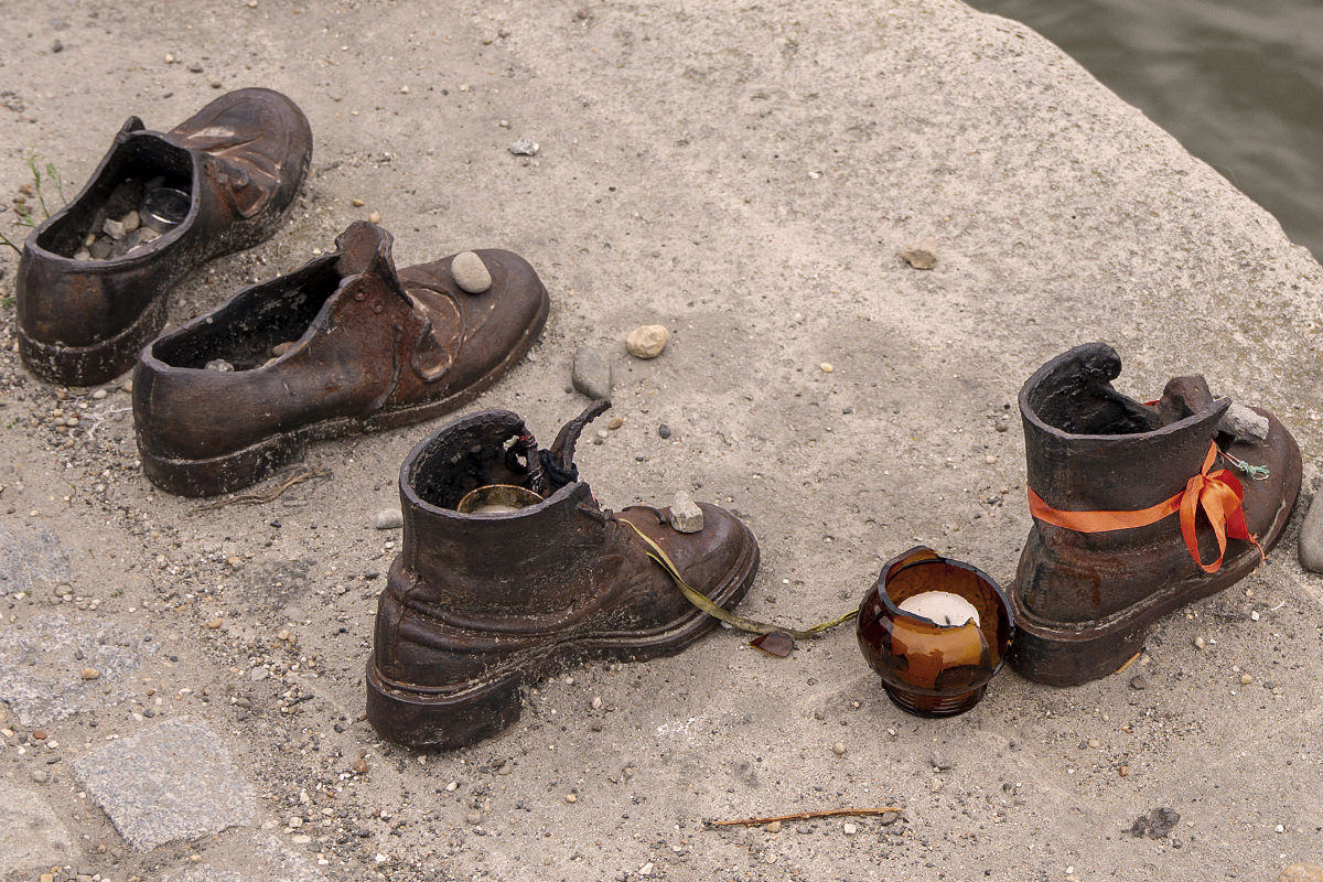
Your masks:
M1069 686L1121 669L1160 616L1246 577L1282 536L1301 451L1267 411L1263 438L1224 431L1230 401L1177 377L1139 403L1121 358L1088 344L1020 390L1033 526L1008 594L1011 664Z

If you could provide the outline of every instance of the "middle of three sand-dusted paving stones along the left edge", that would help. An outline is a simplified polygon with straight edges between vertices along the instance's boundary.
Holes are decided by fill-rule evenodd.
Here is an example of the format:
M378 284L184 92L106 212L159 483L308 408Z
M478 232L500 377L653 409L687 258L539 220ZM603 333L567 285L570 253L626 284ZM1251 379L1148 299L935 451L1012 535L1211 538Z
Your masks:
M144 637L101 619L57 612L7 625L0 632L0 701L24 726L105 707L128 694L123 681L153 651ZM85 668L99 676L83 680Z

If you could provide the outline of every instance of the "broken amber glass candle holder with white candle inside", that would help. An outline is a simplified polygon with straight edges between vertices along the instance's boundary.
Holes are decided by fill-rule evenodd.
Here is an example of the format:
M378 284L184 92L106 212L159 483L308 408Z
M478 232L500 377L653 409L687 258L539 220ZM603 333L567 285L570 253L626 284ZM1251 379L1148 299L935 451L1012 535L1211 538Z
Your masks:
M857 633L897 706L953 717L979 703L1002 669L1015 614L986 573L917 546L882 567L859 606Z

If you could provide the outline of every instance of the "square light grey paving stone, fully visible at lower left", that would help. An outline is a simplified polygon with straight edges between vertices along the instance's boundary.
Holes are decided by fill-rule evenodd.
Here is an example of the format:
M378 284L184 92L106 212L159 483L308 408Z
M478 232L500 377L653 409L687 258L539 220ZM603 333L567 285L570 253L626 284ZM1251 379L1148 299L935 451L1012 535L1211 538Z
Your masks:
M229 750L189 717L89 751L74 778L139 852L253 820L253 793Z

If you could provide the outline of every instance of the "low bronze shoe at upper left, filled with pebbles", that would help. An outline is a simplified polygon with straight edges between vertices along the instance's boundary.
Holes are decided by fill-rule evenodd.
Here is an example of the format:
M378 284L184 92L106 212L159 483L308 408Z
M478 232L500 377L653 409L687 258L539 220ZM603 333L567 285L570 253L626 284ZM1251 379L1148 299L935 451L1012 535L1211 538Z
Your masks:
M270 89L221 95L168 132L131 116L82 193L22 246L28 369L70 386L128 370L165 324L171 288L269 238L311 157L303 111Z

